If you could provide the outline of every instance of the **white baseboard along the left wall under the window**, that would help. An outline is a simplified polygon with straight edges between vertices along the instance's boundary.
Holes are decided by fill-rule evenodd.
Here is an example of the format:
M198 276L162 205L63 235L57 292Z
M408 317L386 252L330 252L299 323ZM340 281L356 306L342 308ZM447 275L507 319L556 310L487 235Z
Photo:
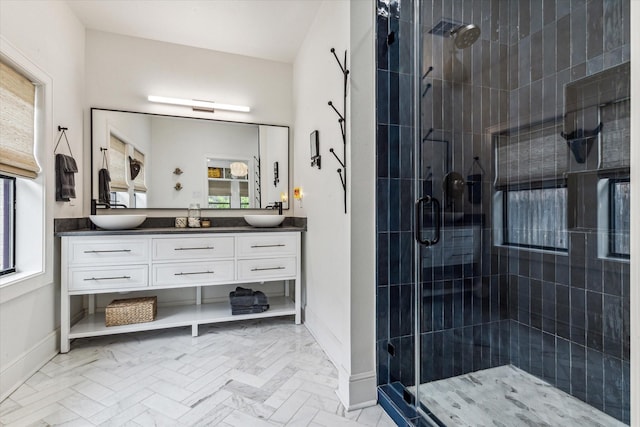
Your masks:
M60 331L56 329L22 353L0 371L0 402L16 391L26 380L51 360L59 351Z

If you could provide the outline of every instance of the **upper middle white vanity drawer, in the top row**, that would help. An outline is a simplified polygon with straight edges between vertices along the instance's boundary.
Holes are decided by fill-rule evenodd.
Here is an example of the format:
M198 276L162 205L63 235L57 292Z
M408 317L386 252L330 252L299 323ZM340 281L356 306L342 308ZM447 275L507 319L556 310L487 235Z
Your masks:
M233 237L153 239L153 260L233 258Z

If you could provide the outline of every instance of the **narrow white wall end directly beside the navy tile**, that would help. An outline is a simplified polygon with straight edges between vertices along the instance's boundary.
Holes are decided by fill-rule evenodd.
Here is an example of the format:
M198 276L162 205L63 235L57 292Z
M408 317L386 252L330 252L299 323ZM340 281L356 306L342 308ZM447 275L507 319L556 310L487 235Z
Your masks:
M350 204L351 293L349 380L340 395L348 407L372 404L376 393L376 91L375 4L351 1Z

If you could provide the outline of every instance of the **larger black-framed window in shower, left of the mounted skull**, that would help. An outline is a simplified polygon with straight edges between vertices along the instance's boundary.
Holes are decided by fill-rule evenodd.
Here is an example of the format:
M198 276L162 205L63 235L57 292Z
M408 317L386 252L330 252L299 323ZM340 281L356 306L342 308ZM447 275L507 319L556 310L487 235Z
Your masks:
M567 251L567 189L505 190L502 244Z

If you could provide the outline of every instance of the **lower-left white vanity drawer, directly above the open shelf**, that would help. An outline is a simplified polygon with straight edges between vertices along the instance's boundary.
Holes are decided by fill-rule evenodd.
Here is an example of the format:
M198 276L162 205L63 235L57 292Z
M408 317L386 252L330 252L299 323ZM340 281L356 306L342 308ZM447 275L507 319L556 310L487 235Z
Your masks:
M69 291L108 291L144 288L149 283L146 265L126 267L73 268L69 271Z

